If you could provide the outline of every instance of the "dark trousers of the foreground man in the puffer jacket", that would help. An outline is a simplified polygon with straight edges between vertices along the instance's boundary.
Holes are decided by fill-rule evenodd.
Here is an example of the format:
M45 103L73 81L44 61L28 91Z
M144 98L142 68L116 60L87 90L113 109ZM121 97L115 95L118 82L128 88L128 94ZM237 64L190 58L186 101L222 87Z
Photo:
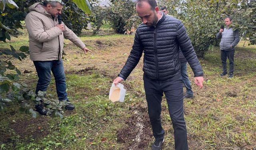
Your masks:
M143 80L154 137L158 140L164 138L160 116L164 93L174 128L175 150L188 150L186 122L183 114L183 82L180 72L166 81L152 80L145 74Z

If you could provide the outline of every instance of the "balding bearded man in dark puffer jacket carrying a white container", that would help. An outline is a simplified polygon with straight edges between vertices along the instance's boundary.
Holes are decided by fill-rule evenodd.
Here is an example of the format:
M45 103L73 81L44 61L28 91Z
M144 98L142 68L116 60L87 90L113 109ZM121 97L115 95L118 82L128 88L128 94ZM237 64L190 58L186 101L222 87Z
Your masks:
M155 0L137 0L136 11L143 23L138 26L128 60L113 83L126 80L144 52L144 88L150 123L156 138L152 150L160 150L164 142L160 117L163 93L174 128L175 149L188 150L179 47L200 89L204 81L202 67L180 20L159 11Z

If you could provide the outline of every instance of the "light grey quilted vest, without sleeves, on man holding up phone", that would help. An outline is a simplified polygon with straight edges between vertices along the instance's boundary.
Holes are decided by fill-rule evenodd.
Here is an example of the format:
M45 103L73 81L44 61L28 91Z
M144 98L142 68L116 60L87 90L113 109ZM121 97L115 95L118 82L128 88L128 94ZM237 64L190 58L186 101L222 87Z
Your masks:
M224 28L224 31L221 34L220 50L234 50L234 47L230 48L232 42L234 42L233 29Z

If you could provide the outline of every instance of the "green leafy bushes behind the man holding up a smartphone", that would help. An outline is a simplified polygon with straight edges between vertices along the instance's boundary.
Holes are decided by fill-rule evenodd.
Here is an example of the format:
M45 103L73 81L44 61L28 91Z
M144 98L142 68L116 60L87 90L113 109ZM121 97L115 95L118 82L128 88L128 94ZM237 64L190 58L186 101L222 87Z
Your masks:
M233 18L232 27L256 44L256 1L252 0L187 0L177 14L184 23L199 57L203 57L210 45L218 45L216 34L224 25L224 18ZM244 37L245 38L245 37Z

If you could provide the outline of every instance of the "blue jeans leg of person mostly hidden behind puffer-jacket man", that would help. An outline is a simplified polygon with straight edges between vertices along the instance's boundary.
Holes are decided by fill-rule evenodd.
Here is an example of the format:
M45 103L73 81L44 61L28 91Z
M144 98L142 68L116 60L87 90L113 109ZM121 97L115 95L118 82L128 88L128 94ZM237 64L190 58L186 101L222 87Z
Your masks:
M186 87L186 94L188 95L193 94L191 83L187 73L187 62L180 62L180 72L181 72L183 84Z

